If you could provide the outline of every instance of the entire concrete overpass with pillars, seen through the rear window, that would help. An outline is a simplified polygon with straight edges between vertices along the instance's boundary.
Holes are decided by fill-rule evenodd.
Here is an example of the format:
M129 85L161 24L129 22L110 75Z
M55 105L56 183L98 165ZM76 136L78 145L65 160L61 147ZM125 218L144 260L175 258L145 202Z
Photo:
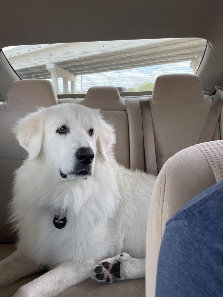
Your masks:
M4 53L23 78L51 79L59 93L76 92L77 75L191 61L196 72L206 41L199 38L126 40L18 46Z

